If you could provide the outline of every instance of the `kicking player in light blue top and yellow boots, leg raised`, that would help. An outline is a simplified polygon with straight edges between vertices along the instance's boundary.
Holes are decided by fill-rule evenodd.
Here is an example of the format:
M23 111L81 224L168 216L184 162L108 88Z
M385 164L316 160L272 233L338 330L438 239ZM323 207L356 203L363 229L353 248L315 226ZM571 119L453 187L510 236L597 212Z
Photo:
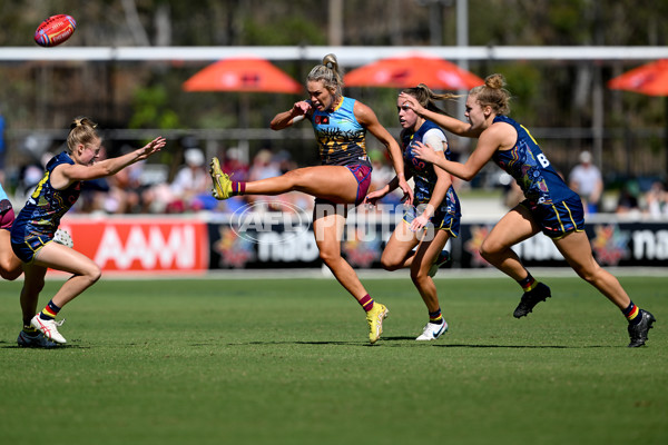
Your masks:
M351 265L341 256L341 240L347 205L358 205L371 181L371 161L366 155L369 130L389 150L399 178L399 187L412 201L412 191L404 178L404 165L399 144L379 122L366 105L343 96L343 80L334 55L327 55L306 78L310 99L296 102L279 112L271 128L282 130L304 118L311 121L320 147L322 165L298 168L283 176L252 182L237 182L212 160L213 195L227 199L236 195L281 195L292 190L314 196L313 230L320 256L338 283L366 312L370 342L375 343L383 330L387 308L374 301Z

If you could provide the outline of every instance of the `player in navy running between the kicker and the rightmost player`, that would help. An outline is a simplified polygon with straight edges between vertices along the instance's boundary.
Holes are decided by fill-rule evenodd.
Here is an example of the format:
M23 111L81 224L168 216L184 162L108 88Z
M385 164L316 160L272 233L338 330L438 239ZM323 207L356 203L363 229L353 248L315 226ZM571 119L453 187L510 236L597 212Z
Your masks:
M402 92L414 98L424 108L443 113L435 105L435 100L442 96L434 95L425 85L407 88ZM397 99L396 109L403 128L401 140L404 165L407 177L412 177L415 182L415 188L413 205L405 207L404 224L394 229L383 250L381 263L387 270L404 267L411 269L411 279L429 313L429 322L416 339L434 340L448 330L448 323L441 314L432 277L439 266L449 259L449 253L443 250L445 244L451 236L459 235L460 204L450 174L416 158L413 152L416 144L422 142L439 158L450 159L450 148L443 131L431 120L404 107L401 98ZM397 186L399 180L394 178L382 189L369 194L365 201L374 205Z

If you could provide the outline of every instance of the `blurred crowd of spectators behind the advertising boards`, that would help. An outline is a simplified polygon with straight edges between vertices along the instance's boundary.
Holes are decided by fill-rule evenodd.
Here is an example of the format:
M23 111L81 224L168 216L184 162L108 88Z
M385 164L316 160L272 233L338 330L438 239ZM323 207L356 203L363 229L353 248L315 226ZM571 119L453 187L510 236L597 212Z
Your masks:
M129 149L131 148L121 149L121 152ZM52 156L53 154L47 151L39 161L24 165L19 169L11 188L16 207L20 207L20 204L35 189L42 178L43 167ZM100 156L106 155L101 152ZM198 147L190 146L181 150L178 157L171 175L169 166L137 162L112 177L86 182L75 211L88 214L234 212L247 205L254 205L257 211L269 211L274 207L285 204L294 205L305 211L311 211L313 208L313 197L297 191L271 197L233 197L218 201L210 194L212 179L205 152ZM226 149L220 155L223 169L232 174L234 180L265 179L301 167L285 150L273 151L263 148L249 161L246 161L245 157L245 152L235 147ZM385 186L394 177L394 170L384 151L373 149L369 152L369 157L373 165L370 190L374 190ZM602 176L591 162L591 155L583 151L580 154L579 160L580 162L564 179L573 190L580 194L589 215L602 211L650 219L668 219L668 190L662 181L645 181L642 182L645 187L642 187L638 180L628 180L615 195L615 201L607 199L607 202L603 202L606 190ZM169 177L173 179L169 180ZM4 181L9 181L9 178L4 178ZM454 182L455 188L458 188L458 184L460 182ZM7 182L3 185L9 191ZM503 201L508 207L513 207L523 199L514 180L504 187ZM395 209L401 204L401 199L402 195L397 189L381 202L387 205L386 208ZM373 211L370 208L362 210Z

